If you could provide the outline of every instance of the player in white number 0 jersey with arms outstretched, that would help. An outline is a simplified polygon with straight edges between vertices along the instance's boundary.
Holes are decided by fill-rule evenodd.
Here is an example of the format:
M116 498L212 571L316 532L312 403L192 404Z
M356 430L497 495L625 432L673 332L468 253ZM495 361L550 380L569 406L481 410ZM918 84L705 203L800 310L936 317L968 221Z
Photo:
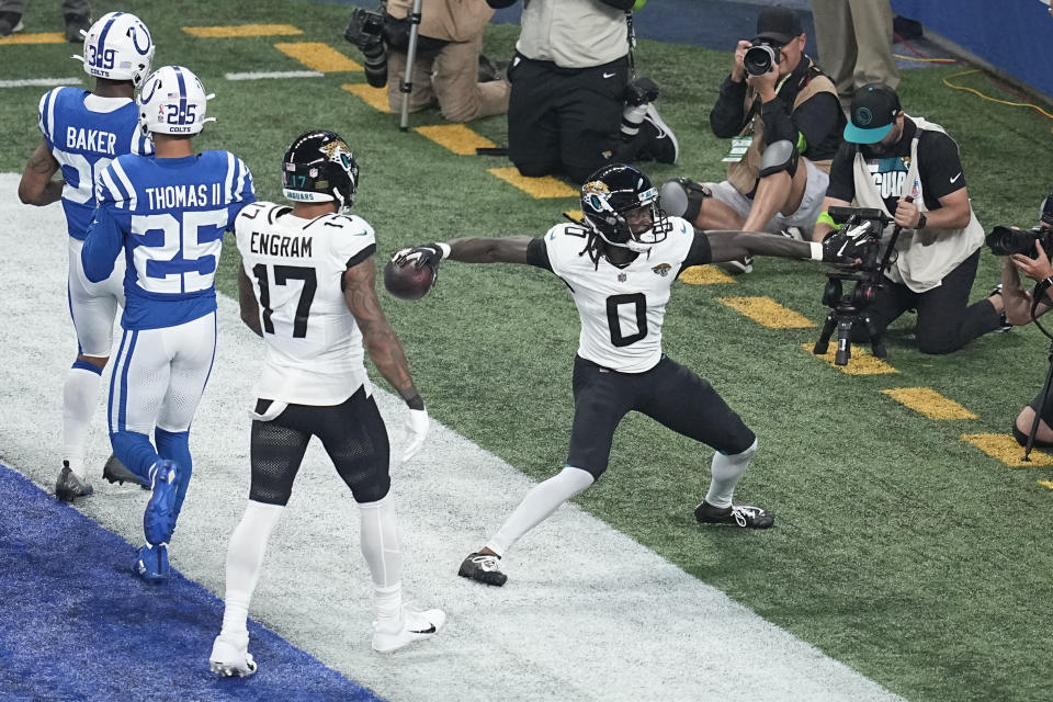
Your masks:
M854 260L841 252L843 240L805 244L767 234L697 230L684 219L667 217L650 180L621 163L589 177L581 186L581 207L582 224L556 225L540 239L456 239L393 257L400 265L437 268L449 258L543 268L567 284L581 318L569 455L563 471L532 488L494 537L461 564L458 575L487 585L505 585L500 557L603 474L614 429L631 410L716 450L709 491L694 510L699 522L771 526L771 513L732 502L757 451L754 432L706 381L661 351L669 287L688 267L743 256Z

